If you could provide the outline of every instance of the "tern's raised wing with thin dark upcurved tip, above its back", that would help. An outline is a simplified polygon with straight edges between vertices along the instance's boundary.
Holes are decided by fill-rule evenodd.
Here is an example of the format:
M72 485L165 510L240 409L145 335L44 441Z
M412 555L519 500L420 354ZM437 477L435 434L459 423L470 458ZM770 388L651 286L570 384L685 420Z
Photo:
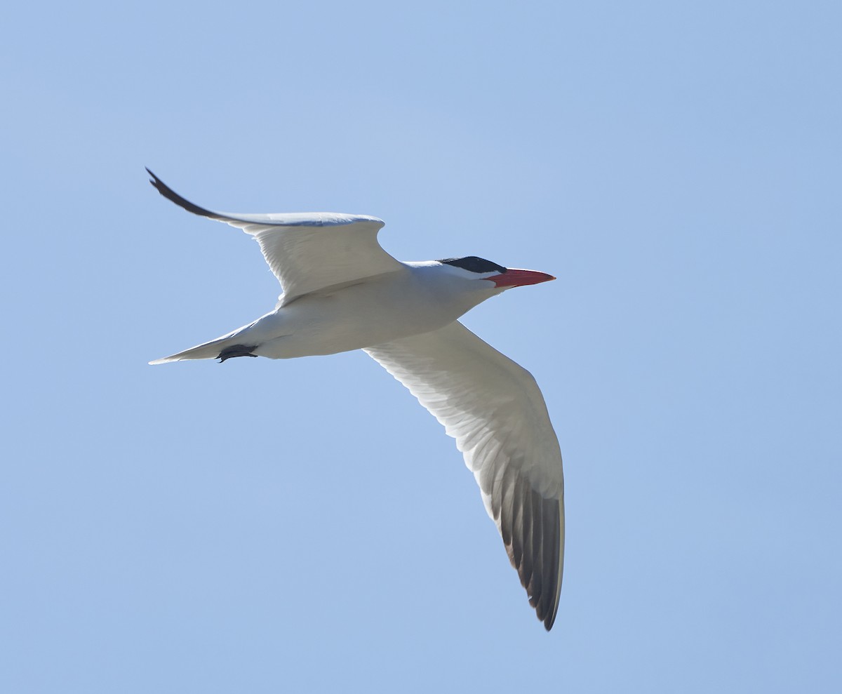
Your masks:
M337 212L214 212L184 200L148 168L147 171L152 176L150 183L176 205L251 234L284 288L283 304L311 291L402 268L377 243L377 232L384 224L377 217Z

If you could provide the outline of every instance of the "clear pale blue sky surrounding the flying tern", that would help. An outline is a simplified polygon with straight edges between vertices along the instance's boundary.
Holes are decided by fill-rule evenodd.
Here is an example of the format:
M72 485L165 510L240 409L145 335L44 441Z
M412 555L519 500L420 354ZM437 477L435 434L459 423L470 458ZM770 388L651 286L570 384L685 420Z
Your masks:
M840 691L842 10L14 3L0 691ZM536 621L362 353L147 366L274 306L227 211L556 282L466 324L556 425Z

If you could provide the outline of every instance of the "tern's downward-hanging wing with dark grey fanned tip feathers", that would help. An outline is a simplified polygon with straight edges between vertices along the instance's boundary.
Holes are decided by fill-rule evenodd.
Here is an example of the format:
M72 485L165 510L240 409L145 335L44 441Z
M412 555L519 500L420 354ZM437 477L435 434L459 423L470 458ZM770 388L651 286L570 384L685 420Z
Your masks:
M365 351L456 439L549 631L562 587L564 477L535 379L461 323Z

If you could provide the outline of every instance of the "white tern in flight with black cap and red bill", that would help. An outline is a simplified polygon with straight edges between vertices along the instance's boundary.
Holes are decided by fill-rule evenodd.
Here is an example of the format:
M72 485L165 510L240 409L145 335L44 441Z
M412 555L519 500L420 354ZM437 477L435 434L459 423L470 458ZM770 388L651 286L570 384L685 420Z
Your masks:
M251 234L284 290L274 310L253 323L149 363L364 350L456 439L530 604L549 631L564 561L558 439L530 372L457 319L511 287L555 278L475 256L400 262L377 243L384 222L376 217L214 212L149 174L150 183L176 205Z

